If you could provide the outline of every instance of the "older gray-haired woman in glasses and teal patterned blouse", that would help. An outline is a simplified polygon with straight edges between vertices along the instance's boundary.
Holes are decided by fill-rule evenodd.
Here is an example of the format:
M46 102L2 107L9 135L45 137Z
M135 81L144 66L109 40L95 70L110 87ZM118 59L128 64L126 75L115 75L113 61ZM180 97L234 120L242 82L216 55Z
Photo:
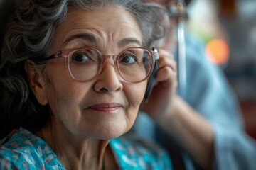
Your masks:
M134 124L154 64L162 111L175 89L161 8L138 0L26 1L1 49L0 169L171 169ZM160 57L158 57L160 56ZM160 100L160 98L159 98Z

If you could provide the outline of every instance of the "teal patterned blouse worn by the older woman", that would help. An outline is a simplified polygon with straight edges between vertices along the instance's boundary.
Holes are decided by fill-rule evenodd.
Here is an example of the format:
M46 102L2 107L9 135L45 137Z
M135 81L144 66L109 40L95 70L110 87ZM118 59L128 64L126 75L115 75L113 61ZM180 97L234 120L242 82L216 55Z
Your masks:
M110 140L119 169L171 169L171 159L156 143L134 136ZM0 141L0 169L65 169L50 146L19 128Z

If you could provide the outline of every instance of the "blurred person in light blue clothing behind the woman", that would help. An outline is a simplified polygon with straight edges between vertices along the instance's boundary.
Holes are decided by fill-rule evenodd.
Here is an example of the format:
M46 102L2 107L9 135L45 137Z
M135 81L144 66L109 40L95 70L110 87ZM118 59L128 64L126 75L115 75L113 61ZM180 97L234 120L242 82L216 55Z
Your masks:
M147 2L161 6L174 3ZM174 33L169 30L161 47L177 59ZM154 90L159 88L156 84L132 132L168 147L178 169L255 169L255 140L245 132L235 94L222 70L207 60L201 41L188 33L185 39L186 94L177 91L168 103L169 111L161 113L157 108L163 101L154 97Z

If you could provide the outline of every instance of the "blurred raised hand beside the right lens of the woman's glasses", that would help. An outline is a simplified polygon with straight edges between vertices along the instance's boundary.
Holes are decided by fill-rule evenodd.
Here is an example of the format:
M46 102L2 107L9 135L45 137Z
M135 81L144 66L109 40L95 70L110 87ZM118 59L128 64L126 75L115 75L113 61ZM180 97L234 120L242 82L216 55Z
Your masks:
M156 84L149 96L148 103L142 102L141 110L149 114L154 120L161 115L170 113L176 96L176 62L170 52L158 49L159 67L156 74Z

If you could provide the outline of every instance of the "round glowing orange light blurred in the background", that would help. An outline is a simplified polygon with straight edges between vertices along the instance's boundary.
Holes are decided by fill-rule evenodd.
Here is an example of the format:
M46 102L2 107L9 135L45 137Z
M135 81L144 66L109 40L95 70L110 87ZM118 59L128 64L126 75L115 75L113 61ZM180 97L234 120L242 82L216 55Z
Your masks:
M206 56L210 62L224 64L228 60L229 47L227 42L220 39L210 40L206 44Z

